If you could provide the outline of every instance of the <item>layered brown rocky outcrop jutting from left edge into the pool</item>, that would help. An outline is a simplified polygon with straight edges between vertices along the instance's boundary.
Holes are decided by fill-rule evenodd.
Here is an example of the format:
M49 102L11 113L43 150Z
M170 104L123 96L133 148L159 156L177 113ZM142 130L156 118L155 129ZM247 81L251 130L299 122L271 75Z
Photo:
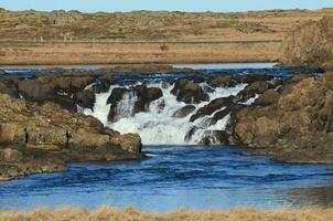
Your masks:
M0 179L61 171L67 161L140 158L138 135L120 135L53 103L0 94Z

